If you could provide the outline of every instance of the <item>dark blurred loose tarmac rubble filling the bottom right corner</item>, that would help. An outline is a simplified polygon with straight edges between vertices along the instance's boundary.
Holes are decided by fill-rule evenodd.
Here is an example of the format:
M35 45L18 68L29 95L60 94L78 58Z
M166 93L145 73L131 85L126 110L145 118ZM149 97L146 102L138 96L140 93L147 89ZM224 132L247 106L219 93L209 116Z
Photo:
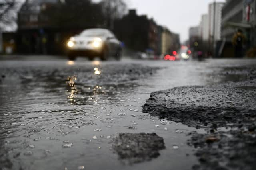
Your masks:
M196 156L200 161L200 165L193 166L194 170L255 170L256 133L232 130L191 135L188 145L198 148ZM208 139L214 140L209 143Z

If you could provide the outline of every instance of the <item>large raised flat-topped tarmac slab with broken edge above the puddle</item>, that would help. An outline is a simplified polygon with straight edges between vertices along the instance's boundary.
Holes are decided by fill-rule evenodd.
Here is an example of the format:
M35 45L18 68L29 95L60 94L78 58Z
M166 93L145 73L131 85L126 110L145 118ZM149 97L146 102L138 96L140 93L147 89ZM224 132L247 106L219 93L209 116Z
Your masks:
M193 127L236 127L255 117L256 90L237 88L245 84L253 87L256 80L153 92L143 112Z

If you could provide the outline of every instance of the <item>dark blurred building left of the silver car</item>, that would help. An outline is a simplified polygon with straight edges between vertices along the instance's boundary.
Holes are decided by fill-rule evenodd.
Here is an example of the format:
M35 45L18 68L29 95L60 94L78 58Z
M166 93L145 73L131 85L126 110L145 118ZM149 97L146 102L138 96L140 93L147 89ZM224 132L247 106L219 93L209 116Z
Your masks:
M26 0L18 12L17 51L29 54L55 54L60 51L60 33L52 29L44 10L58 0Z

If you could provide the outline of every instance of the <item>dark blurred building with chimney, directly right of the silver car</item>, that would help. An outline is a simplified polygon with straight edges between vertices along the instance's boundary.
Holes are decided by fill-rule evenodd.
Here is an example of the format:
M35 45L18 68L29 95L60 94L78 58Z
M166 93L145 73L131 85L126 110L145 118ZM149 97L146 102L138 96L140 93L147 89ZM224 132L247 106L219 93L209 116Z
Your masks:
M114 33L131 52L157 52L158 27L146 15L138 16L136 10L129 10L127 15L115 21Z

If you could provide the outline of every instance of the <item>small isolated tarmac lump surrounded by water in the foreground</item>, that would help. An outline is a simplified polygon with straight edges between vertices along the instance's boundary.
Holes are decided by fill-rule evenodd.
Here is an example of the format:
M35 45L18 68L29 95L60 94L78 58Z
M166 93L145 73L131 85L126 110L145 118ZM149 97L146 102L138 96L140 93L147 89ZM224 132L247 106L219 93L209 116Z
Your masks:
M156 158L159 150L165 149L164 139L156 133L119 133L112 147L121 160L130 164Z

